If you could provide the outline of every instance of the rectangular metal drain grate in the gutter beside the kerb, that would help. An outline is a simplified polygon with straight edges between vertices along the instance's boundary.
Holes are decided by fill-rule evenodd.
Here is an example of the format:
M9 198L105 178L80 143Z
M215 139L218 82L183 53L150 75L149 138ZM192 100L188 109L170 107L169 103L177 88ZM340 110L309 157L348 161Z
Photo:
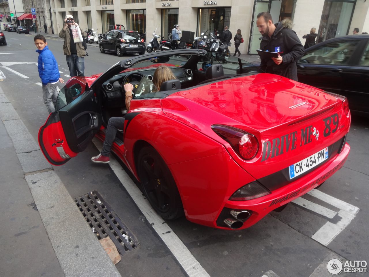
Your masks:
M98 191L79 196L74 201L97 237L109 236L121 255L139 246L136 237Z

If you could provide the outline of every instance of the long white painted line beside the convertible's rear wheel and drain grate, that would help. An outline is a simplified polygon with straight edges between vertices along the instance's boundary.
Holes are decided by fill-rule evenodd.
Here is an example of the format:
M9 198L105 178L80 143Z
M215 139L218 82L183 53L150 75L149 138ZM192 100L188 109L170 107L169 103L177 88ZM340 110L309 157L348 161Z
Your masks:
M97 149L101 151L102 143L97 138L93 139L93 142ZM173 232L173 230L164 222L164 220L154 211L147 199L142 195L142 192L138 189L137 185L127 175L122 166L118 163L113 156L110 158L110 168L114 171L115 175L123 184L128 194L131 195L133 201L135 201L138 208L144 214L152 228L161 237L163 242L173 253L177 261L186 271L189 277L210 277L206 270L195 259L192 253L187 249L179 237Z

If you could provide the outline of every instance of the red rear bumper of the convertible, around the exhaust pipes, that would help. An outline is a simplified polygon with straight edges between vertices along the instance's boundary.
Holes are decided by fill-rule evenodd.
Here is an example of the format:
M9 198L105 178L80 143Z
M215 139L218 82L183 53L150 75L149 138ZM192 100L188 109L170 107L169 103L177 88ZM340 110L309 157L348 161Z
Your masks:
M188 162L168 165L179 189L186 218L213 228L228 229L224 219L232 218L230 211L247 210L251 215L239 229L261 220L269 212L306 194L323 183L345 163L350 151L346 143L341 153L327 163L270 194L247 201L229 201L243 185L255 181L239 167L228 152ZM252 172L250 172L252 173Z

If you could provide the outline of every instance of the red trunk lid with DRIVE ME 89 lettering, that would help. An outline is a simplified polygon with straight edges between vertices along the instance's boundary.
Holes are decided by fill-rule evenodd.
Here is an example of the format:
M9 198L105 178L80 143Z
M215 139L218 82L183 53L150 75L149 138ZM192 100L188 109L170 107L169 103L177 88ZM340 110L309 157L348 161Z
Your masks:
M348 132L342 99L281 76L261 73L228 79L162 99L169 116L223 144L256 179L330 147ZM255 158L245 161L211 129L237 127L258 138ZM287 172L288 173L288 172Z

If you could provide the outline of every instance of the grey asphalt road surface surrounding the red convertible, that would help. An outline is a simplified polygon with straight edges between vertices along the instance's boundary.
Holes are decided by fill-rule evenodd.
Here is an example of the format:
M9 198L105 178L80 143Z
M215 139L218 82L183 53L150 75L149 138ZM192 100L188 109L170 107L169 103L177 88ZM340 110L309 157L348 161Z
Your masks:
M41 86L37 84L40 82L36 66L38 54L33 35L8 32L5 35L8 44L0 46L0 86L37 140L39 127L48 113L42 102ZM47 38L47 42L58 61L61 75L69 75L62 52L63 42L51 38ZM87 51L86 76L103 72L125 58L101 54L99 48L92 45ZM68 79L67 76L63 78ZM308 204L289 204L282 212L272 212L246 230L218 230L193 224L185 218L167 223L212 277L261 277L267 271L280 277L331 276L325 268L328 258L369 261L368 127L367 119L352 118L347 140L351 146L348 161L318 189L324 194L304 196ZM99 190L137 237L140 246L124 255L116 265L121 275L187 276L110 167L90 161L98 153L91 143L85 152L54 170L73 198ZM329 218L327 213L317 211L321 206L334 216ZM352 206L358 211L355 215L345 211ZM328 241L322 242L319 234L324 226L340 232L333 234L332 231ZM341 273L339 276L365 274Z

